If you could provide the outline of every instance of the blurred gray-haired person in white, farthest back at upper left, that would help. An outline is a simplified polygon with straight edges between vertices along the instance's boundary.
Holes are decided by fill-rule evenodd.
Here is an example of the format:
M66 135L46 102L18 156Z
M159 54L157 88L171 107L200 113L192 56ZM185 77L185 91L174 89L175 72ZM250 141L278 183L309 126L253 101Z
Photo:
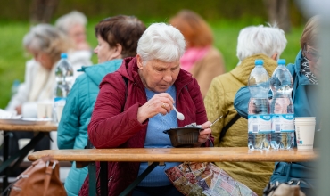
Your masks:
M87 17L82 12L72 11L56 20L55 27L68 37L71 45L74 45L68 55L72 63L73 78L78 78L83 72L78 72L81 66L92 64L92 50L87 43L86 35Z

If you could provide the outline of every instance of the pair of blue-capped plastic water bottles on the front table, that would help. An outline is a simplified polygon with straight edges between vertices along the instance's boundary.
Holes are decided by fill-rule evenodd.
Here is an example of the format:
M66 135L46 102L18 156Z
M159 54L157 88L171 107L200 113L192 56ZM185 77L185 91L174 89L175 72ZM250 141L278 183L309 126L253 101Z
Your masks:
M293 148L293 78L285 67L285 60L278 60L278 67L270 79L263 61L256 60L248 87L251 94L248 105L248 147L258 150ZM270 102L269 89L273 93Z

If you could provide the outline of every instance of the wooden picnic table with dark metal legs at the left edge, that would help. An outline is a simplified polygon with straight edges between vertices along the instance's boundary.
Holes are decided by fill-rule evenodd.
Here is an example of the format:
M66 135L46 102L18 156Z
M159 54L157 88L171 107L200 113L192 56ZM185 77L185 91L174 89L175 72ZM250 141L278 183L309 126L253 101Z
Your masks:
M45 124L31 124L31 125L16 125L12 123L0 123L0 130L4 131L4 162L0 165L0 172L4 171L3 177L3 188L8 185L8 174L15 171L17 167L20 166L22 160L27 156L29 151L35 148L37 143L44 138L51 131L57 130L57 125L51 122L46 122ZM17 131L33 131L38 132L31 141L24 146L20 151L12 155L9 159L9 133ZM3 189L4 190L4 189Z

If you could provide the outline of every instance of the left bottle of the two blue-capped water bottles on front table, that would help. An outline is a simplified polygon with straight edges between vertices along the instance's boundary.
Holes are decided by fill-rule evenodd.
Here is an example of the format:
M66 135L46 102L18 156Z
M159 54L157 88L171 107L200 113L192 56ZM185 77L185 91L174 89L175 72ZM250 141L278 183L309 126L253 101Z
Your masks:
M262 60L255 61L248 80L250 101L248 106L248 147L249 149L269 149L271 116L268 102L269 76Z

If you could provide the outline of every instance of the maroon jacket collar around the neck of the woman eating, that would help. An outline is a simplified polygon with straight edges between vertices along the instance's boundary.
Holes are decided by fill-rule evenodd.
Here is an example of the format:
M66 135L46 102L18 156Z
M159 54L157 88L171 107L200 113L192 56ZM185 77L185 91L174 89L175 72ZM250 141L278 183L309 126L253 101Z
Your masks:
M120 69L118 69L122 77L128 78L131 82L136 83L137 86L144 88L141 78L138 75L138 67L136 57L128 57L124 59ZM193 81L192 75L184 69L180 69L177 80L174 85L178 90L181 90L184 86Z

